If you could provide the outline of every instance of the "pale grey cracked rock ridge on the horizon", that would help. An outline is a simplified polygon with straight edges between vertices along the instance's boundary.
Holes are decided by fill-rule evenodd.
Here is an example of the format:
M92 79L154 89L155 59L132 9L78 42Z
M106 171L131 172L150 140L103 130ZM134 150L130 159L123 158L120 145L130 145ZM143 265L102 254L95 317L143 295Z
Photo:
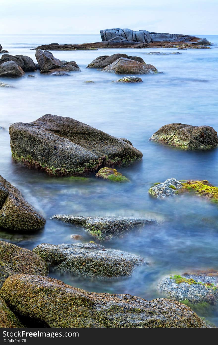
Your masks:
M133 31L130 29L104 29L100 30L102 41L132 41L142 43L156 42L195 42L199 45L210 45L206 38L202 39L195 36L183 35L179 33L158 33L147 30Z

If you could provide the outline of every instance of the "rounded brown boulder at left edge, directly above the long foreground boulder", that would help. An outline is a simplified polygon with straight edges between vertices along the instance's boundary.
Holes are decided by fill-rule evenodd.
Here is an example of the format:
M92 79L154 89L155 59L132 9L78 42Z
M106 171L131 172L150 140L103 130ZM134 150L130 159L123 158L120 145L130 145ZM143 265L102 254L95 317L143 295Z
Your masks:
M48 265L31 250L0 241L0 287L13 274L48 274Z

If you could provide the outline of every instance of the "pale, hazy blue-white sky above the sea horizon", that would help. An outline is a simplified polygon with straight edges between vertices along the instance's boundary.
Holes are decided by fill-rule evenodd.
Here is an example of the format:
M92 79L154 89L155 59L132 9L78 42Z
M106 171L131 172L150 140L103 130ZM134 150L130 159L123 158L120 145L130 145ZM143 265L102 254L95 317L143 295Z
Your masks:
M218 34L218 0L0 0L0 34Z

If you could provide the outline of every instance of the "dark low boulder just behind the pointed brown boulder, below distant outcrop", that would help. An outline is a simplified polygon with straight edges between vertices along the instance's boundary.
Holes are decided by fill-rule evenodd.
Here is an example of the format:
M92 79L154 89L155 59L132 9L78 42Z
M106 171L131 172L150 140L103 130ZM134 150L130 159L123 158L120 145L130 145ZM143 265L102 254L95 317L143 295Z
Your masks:
M87 68L104 68L108 65L111 65L111 63L113 63L119 58L126 58L126 59L131 59L134 61L138 61L141 63L145 63L145 61L138 56L128 56L126 54L113 54L111 56L110 55L98 56L96 59L94 59L92 62L89 63Z

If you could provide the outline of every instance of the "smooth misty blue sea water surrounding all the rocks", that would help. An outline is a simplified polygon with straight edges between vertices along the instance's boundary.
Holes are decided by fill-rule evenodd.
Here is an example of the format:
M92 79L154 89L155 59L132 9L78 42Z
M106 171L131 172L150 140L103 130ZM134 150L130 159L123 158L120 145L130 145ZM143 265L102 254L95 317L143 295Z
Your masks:
M201 35L201 37L203 37ZM204 36L218 43L218 36ZM7 35L0 37L11 55L28 55L35 62L35 46L58 43L100 41L98 35ZM148 189L167 178L207 179L218 185L218 150L185 152L149 142L161 126L171 122L209 125L218 130L217 81L218 47L180 50L181 55L151 56L150 51L176 49L101 49L53 51L61 60L76 61L81 72L69 77L40 75L36 78L3 79L14 88L0 90L0 175L18 187L24 197L46 218L44 229L35 234L17 235L1 231L1 239L32 249L45 242L73 243L72 234L91 237L81 228L51 221L53 214L139 216L161 220L159 226L145 227L105 247L139 254L149 266L140 267L128 279L104 282L51 276L90 291L130 293L146 299L159 297L157 282L165 274L183 273L193 268L218 269L218 209L195 197L164 201L149 197ZM159 75L143 75L138 85L117 85L116 75L85 67L100 55L126 53L151 63ZM86 84L86 80L95 83ZM143 160L119 169L131 183L116 185L96 180L72 182L68 177L51 178L11 160L8 128L14 122L30 122L44 114L68 116L116 137L125 137L143 152ZM202 315L201 315L202 316ZM206 316L206 315L203 315ZM218 325L218 310L206 316Z

